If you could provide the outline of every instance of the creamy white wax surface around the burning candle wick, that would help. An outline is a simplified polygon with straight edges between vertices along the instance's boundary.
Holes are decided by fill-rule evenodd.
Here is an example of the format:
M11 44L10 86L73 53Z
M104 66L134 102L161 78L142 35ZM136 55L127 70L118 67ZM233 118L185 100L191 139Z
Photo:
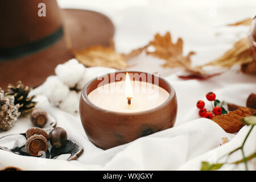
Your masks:
M167 100L170 94L158 85L148 82L131 81L133 97L127 104L125 81L112 82L99 86L88 94L94 105L110 111L135 113L153 109Z

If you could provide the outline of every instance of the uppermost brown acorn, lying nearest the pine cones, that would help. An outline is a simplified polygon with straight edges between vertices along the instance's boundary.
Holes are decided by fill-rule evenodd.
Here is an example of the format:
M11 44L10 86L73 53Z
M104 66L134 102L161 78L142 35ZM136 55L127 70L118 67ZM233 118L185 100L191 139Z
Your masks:
M38 127L43 127L48 121L48 115L45 110L36 108L30 113L31 122Z

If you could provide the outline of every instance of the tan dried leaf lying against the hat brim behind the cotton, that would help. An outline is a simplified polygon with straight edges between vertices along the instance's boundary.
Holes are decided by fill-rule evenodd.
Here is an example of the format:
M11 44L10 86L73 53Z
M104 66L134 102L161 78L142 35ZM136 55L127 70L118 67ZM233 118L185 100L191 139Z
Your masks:
M127 67L125 57L113 48L93 46L75 52L75 57L86 67L109 67L122 69Z

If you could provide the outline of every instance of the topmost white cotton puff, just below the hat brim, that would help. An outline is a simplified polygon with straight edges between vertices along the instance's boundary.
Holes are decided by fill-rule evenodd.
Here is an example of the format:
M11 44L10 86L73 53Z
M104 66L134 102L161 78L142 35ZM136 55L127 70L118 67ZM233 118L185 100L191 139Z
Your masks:
M56 75L67 84L70 88L73 88L84 75L85 67L76 59L71 59L64 64L59 64L55 68Z

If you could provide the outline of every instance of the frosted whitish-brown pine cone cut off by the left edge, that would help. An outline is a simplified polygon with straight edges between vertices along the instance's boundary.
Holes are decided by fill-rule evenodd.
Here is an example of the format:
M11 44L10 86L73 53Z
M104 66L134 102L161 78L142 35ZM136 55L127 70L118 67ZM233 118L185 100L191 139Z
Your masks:
M6 131L15 125L20 113L19 104L14 104L14 96L5 96L0 88L0 130Z

